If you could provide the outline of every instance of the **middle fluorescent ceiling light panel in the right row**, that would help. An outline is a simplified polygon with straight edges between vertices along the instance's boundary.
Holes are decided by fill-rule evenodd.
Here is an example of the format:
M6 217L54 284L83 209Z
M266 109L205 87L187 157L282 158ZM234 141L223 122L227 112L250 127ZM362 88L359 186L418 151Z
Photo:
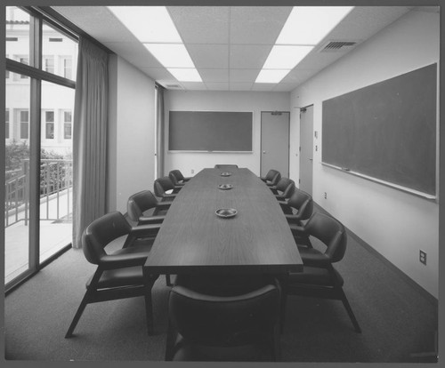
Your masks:
M275 45L263 69L293 69L312 49L313 46Z

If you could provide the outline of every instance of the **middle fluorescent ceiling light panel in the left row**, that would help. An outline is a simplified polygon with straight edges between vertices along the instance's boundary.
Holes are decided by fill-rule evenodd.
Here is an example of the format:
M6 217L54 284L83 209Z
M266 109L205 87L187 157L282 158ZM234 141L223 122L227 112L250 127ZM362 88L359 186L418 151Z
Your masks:
M165 68L195 68L183 44L144 44Z

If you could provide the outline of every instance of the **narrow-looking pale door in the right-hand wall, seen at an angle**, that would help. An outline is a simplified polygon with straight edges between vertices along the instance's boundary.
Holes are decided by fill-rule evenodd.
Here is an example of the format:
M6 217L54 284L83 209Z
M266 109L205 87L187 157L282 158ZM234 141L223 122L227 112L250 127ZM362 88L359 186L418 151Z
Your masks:
M313 105L300 110L300 189L312 196Z

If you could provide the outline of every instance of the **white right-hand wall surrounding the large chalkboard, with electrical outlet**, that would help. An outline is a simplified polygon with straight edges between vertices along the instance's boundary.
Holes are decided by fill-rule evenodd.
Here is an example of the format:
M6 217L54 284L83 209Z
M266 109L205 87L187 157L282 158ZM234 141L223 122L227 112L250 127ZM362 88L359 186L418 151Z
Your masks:
M321 148L323 100L438 62L439 50L439 13L409 12L299 86L291 93L291 106L314 105L314 130L321 132L314 147ZM298 147L299 129L298 110L292 109L291 148ZM313 153L314 200L437 298L439 205L320 161L321 149ZM291 167L297 182L299 163L292 153ZM419 249L427 253L426 266L418 260Z

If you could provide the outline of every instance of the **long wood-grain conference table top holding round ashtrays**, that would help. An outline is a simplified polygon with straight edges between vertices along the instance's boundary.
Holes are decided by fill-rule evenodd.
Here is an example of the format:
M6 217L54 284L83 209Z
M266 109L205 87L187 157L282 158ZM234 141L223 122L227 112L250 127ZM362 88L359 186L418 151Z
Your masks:
M232 172L222 177L221 172ZM219 184L232 184L221 190ZM219 208L235 208L229 219ZM157 274L301 272L295 240L278 201L248 169L204 169L179 192L144 265Z

